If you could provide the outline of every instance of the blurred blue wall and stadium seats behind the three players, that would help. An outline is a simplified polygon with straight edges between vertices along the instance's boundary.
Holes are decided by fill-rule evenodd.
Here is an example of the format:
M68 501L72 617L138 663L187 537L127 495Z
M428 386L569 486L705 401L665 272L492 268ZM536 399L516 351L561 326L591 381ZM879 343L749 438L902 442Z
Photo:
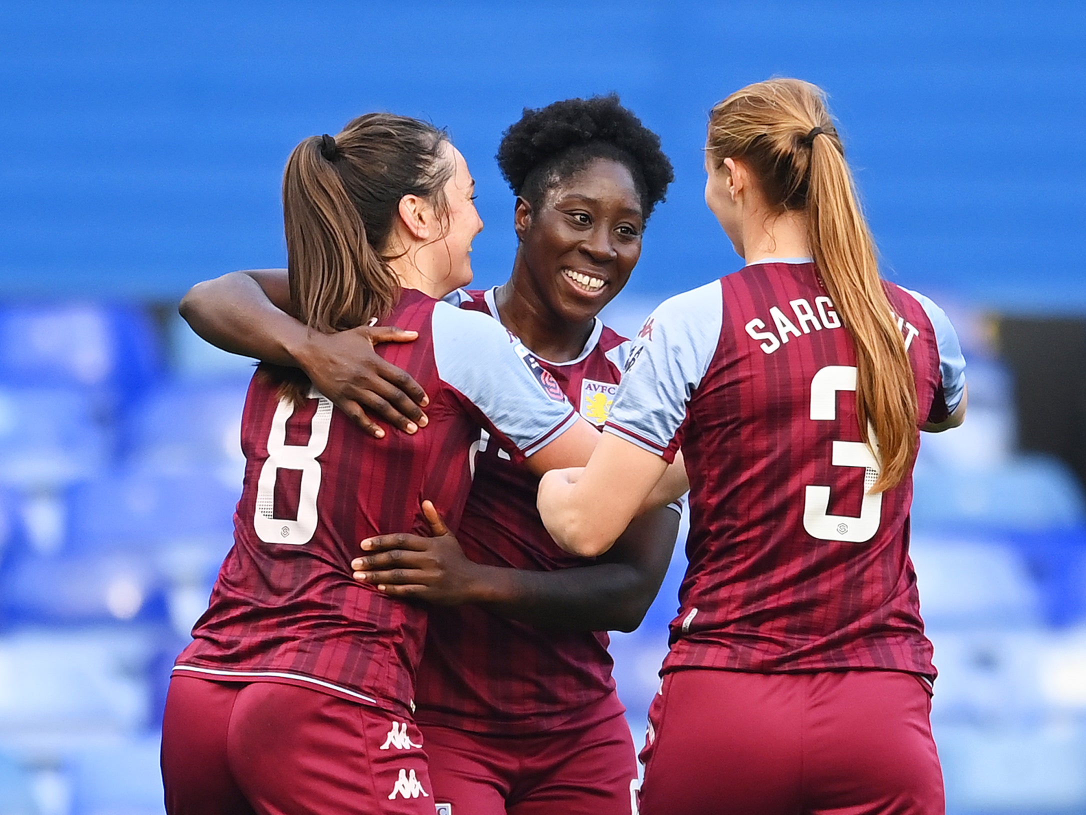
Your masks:
M771 75L830 92L886 275L970 360L914 510L948 808L1086 813L1086 5L478 0L0 5L0 815L162 812L163 694L230 546L249 371L176 302L283 264L299 140L379 109L447 126L490 286L515 248L502 131L617 90L675 165L609 309L630 330L740 265L702 201L705 121ZM637 738L682 566L615 638Z

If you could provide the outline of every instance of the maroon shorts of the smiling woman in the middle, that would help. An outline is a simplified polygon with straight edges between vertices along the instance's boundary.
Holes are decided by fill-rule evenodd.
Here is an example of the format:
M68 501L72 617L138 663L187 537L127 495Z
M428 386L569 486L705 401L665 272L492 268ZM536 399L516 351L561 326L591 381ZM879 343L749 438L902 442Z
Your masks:
M636 813L637 761L621 714L541 735L419 727L438 815Z

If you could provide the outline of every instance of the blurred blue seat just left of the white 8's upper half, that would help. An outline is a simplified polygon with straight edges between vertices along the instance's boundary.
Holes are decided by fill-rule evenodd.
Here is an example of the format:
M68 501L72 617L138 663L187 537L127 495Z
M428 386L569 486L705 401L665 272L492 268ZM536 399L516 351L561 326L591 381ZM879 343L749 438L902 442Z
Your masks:
M132 415L130 460L140 469L217 467L241 484L241 411L249 378L175 380L154 389Z

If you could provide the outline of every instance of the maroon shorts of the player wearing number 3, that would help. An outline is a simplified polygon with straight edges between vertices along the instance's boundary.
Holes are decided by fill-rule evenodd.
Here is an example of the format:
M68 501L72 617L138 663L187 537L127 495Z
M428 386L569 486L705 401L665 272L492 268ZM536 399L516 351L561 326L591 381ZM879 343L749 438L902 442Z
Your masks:
M926 682L895 670L668 674L641 815L942 815Z

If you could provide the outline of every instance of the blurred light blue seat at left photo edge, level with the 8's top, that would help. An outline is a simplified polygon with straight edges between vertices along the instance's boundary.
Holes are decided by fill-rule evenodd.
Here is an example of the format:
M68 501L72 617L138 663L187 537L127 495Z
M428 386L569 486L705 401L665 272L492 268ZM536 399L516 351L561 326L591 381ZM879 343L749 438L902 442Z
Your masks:
M101 472L111 452L109 417L86 391L0 385L0 484L55 489Z

